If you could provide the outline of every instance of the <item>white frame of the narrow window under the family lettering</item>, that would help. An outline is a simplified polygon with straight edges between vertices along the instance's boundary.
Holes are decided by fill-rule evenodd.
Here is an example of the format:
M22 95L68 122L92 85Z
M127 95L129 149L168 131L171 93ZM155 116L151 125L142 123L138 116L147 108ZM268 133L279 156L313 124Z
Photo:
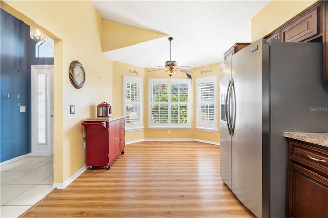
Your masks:
M139 93L139 108L140 108L140 123L138 124L127 124L127 112L126 112L126 82L138 83L140 85ZM126 76L123 75L123 116L125 119L125 132L133 132L144 129L144 79L140 77Z

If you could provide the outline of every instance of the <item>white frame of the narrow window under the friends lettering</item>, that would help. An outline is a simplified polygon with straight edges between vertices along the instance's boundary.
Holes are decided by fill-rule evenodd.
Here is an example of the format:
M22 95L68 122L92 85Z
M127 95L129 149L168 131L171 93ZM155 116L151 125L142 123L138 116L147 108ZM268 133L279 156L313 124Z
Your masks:
M214 108L214 122L209 123L209 122L201 122L199 120L199 86L200 84L203 83L209 83L213 82L214 83L214 101L213 101L213 108ZM197 130L202 130L206 132L213 132L217 133L218 132L218 81L217 81L217 76L210 76L210 77L202 77L202 78L197 78L196 79L196 129Z

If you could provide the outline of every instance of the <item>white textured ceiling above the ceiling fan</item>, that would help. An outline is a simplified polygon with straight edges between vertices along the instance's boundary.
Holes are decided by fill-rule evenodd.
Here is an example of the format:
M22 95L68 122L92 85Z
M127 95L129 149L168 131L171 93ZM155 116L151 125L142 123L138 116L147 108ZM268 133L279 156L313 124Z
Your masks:
M251 42L251 19L269 2L92 0L103 19L173 37L172 60L192 68L222 62L223 53L234 43ZM106 55L139 67L163 66L170 60L168 37Z

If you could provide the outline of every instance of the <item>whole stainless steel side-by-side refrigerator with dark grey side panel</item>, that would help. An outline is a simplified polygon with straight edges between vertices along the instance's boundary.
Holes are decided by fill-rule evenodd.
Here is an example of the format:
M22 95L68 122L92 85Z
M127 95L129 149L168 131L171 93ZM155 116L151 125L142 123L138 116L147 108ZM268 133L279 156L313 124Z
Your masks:
M252 43L221 64L220 96L222 180L257 217L285 217L283 132L328 132L322 43Z

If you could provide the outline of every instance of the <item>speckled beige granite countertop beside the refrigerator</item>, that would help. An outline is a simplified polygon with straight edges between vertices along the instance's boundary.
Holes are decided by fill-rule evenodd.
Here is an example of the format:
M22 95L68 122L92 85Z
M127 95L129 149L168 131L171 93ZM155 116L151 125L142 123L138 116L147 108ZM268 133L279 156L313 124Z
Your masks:
M328 147L328 133L284 132L283 136Z

